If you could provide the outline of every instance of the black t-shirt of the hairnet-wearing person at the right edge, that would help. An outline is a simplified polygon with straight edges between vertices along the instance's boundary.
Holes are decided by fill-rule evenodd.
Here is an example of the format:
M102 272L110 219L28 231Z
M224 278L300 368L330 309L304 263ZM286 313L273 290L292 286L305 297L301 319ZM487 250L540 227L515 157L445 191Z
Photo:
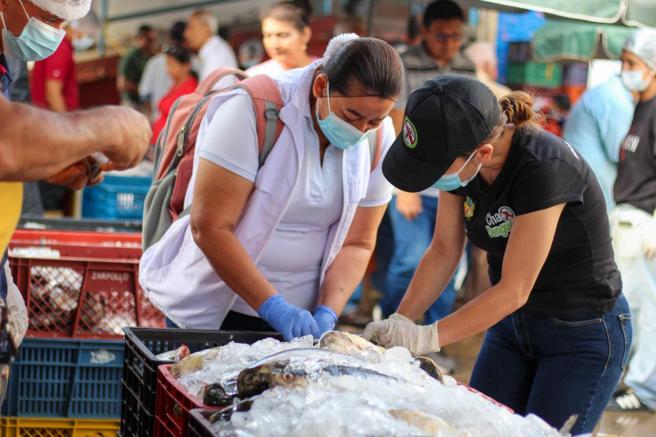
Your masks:
M620 147L615 202L649 214L656 209L656 98L639 102Z

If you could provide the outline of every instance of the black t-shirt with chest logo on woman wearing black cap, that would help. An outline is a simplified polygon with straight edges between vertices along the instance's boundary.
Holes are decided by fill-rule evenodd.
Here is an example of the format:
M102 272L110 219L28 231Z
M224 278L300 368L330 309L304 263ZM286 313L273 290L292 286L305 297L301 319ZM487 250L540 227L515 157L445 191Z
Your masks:
M517 129L496 180L477 176L453 194L464 197L471 242L488 253L493 284L515 216L566 206L551 251L524 310L550 317L599 315L620 294L604 196L588 164L562 139L541 129Z

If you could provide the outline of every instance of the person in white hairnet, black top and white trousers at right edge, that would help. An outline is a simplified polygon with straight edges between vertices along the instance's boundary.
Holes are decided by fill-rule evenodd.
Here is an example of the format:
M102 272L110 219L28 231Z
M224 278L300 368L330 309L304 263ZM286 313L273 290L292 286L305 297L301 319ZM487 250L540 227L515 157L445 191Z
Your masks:
M656 409L656 30L640 29L622 50L622 82L638 96L620 145L616 207L611 213L615 259L633 314L634 350L610 408Z

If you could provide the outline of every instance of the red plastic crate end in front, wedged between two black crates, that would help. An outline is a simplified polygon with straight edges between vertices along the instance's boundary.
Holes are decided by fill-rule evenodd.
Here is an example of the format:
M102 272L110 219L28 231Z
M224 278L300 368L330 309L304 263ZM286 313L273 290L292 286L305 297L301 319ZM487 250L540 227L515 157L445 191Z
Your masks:
M187 392L171 375L171 364L159 366L154 437L187 437L191 410L197 408L218 410Z

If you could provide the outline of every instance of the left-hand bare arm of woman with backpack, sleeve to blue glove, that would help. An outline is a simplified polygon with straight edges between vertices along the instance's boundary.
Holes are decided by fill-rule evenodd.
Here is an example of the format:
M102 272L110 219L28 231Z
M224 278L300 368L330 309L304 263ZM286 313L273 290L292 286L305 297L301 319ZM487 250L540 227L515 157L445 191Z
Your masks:
M191 232L221 279L257 309L276 290L235 235L252 191L249 180L201 159L191 208Z

